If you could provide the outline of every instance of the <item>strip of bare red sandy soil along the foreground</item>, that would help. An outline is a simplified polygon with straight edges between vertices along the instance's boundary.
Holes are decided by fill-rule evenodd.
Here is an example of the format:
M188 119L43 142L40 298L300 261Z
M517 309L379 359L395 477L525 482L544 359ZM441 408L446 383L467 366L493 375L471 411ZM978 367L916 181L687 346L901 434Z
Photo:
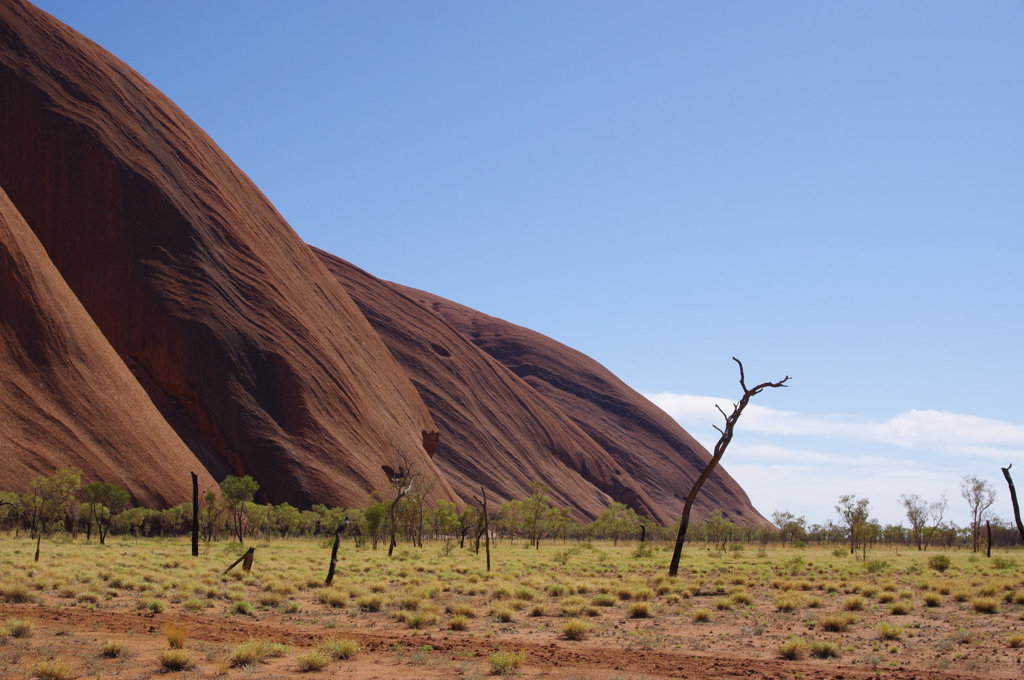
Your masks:
M555 630L525 632L508 624L481 637L455 631L411 631L380 617L371 623L367 617L353 620L345 615L323 617L312 623L308 618L303 621L288 614L225 619L221 614L0 604L0 618L34 623L29 638L0 645L2 677L11 680L28 679L39 660L54 656L71 663L75 669L72 677L176 677L162 672L157 662L159 650L168 646L162 633L168 624L189 633L186 648L197 662L196 669L184 676L189 678L480 678L490 673L488 657L498 650L524 652L525 662L511 674L513 677L553 679L1001 679L1020 677L1021 668L1019 650L987 655L967 647L956 654L956 670L938 670L941 660L949 654L926 644L903 648L891 657L883 650L877 664L863 658L784 661L778 657L777 640L760 640L742 631L740 625L695 626L678 618L662 623L624 621L607 634L580 642L556 634L557 625L551 627ZM870 635L847 633L836 639L849 641ZM335 637L355 640L362 651L319 672L298 671L297 655L311 651L323 639ZM255 667L229 668L231 649L251 638L287 644L288 653ZM129 650L126 657L100 658L98 649L109 640L125 641Z

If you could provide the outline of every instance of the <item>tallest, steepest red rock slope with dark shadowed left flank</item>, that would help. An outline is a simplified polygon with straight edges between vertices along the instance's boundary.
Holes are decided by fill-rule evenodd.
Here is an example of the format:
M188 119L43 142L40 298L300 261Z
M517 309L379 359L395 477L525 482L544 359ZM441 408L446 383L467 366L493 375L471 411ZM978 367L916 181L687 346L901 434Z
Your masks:
M272 502L367 501L401 452L457 497L380 338L256 186L126 65L0 4L0 185L167 421Z

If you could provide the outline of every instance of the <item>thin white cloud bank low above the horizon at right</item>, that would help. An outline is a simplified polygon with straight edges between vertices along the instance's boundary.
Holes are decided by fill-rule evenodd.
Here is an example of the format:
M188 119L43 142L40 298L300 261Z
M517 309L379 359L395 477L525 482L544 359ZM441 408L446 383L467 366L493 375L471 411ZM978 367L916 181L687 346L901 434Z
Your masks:
M728 399L662 392L648 399L675 418L705 447L718 439L720 405ZM950 503L947 520L969 520L959 481L978 475L996 490L996 513L1009 504L998 467L1024 464L1024 425L944 411L910 410L884 421L842 415L808 416L750 405L723 465L770 516L774 510L805 515L810 522L835 519L843 494L870 499L884 523L906 521L899 497L919 494Z

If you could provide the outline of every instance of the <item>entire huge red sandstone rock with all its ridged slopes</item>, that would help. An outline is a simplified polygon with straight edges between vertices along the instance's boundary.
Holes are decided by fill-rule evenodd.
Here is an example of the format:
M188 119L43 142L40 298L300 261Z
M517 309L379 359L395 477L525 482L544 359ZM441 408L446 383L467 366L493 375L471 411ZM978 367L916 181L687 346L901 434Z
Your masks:
M77 465L140 502L428 501L530 482L578 519L674 522L708 453L592 359L307 247L116 57L0 3L0 488ZM353 302L354 299L354 302ZM436 424L435 424L436 423ZM720 471L697 515L764 519Z

